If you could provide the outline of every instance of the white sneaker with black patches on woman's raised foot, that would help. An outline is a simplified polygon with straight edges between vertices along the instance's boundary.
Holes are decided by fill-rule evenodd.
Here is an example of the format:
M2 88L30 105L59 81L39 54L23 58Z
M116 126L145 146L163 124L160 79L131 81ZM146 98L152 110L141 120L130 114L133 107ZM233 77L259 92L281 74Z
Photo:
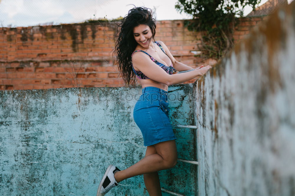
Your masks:
M106 172L104 173L104 177L102 178L98 186L96 196L103 196L104 194L109 192L111 188L118 185L114 177L115 172L118 172L118 171L121 171L121 170L119 170L114 165L109 165L109 167L106 169Z

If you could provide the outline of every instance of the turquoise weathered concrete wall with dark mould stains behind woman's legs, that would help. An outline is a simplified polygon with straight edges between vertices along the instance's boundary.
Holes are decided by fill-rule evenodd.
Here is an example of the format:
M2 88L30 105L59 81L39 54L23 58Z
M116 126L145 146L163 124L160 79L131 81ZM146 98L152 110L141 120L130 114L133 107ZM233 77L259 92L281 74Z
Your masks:
M194 124L192 89L169 87L172 124ZM132 114L140 94L139 87L0 91L0 195L95 195L109 164L124 169L144 156ZM194 131L175 134L178 157L196 160ZM196 192L194 165L178 163L160 176L165 189ZM109 195L148 193L137 176Z

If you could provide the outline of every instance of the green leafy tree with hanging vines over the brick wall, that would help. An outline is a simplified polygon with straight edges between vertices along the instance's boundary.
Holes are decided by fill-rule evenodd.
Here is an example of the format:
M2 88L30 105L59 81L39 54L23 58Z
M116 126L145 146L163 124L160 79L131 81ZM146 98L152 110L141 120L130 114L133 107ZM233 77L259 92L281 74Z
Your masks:
M208 58L220 58L233 46L235 17L242 16L245 6L255 6L261 0L178 0L175 8L195 19L188 23L189 30L201 31L202 46Z

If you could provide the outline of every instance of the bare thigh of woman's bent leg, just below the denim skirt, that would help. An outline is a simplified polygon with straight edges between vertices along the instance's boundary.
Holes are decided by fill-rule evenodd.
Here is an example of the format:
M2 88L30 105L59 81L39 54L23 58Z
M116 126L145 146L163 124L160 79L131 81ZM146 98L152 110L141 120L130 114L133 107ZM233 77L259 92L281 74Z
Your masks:
M175 160L177 159L177 149L175 140L169 140L160 142L153 145L156 153L159 154L164 160Z

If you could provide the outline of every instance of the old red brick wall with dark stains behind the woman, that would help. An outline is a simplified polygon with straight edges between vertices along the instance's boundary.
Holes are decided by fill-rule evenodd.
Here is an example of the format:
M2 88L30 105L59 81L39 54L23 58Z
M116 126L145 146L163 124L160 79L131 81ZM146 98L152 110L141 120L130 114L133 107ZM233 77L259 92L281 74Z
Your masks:
M239 19L235 41L261 20ZM158 21L155 40L189 66L214 64L191 53L198 51L200 33L183 23ZM124 86L111 53L116 33L114 23L0 28L0 90Z

